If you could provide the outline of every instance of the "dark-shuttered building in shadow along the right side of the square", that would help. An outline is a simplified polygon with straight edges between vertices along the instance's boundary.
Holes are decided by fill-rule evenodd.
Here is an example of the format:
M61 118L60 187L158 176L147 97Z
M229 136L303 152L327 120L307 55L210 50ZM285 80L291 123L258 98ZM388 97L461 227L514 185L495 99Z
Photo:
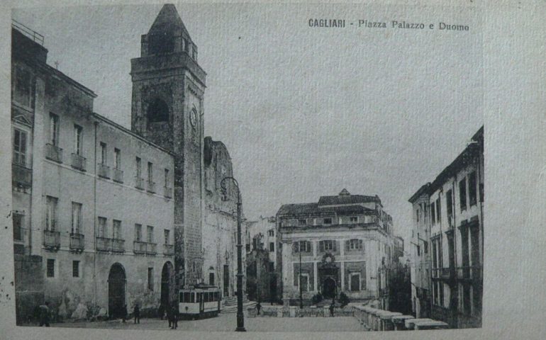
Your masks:
M424 189L423 189L424 188ZM416 251L430 252L430 317L452 327L481 326L484 128L436 179L412 196ZM416 215L428 215L423 225ZM418 217L419 216L419 217ZM423 232L428 227L428 233ZM423 234L421 234L423 232ZM420 249L423 246L423 249ZM418 261L414 258L414 263ZM417 277L417 276L416 276ZM412 278L413 280L413 278ZM425 285L425 283L423 283Z

